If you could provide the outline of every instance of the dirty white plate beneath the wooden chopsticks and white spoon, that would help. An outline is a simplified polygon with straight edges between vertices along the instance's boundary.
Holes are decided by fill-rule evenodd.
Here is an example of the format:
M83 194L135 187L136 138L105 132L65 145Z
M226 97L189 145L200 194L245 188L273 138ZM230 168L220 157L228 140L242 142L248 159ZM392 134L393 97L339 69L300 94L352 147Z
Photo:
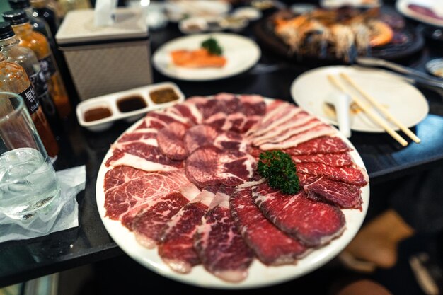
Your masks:
M306 71L292 83L292 99L297 105L313 115L323 118L330 124L338 125L335 117L331 112L328 112L328 108L325 108L325 102L331 93L338 91L328 81L328 75L337 76L340 73L349 75L355 83L378 100L381 105L384 105L393 117L396 117L407 127L417 125L418 122L425 119L429 112L425 96L410 83L389 73L389 71L359 66L324 66ZM352 86L342 79L340 81L355 96L362 98L359 93L353 91ZM364 100L364 98L362 99ZM369 105L369 103L367 104ZM359 132L385 132L382 127L364 115L364 112L350 115L350 127ZM398 130L396 125L391 125L391 127Z

